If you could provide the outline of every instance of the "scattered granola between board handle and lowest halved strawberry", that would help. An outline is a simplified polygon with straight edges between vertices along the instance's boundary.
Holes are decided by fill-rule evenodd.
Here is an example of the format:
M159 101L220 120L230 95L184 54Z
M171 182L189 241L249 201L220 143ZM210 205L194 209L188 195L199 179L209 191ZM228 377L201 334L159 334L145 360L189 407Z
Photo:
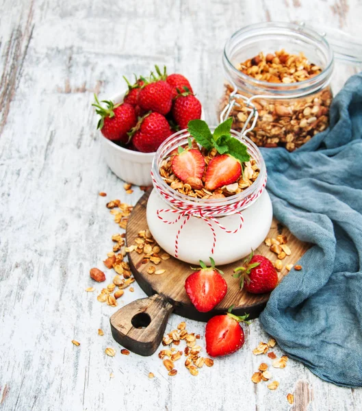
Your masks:
M168 349L162 349L159 351L159 358L164 360L164 366L168 370L168 375L173 376L177 374L177 369L174 368L174 362L179 360L183 355L186 357L185 367L190 371L192 375L198 375L198 369L201 369L203 365L213 366L214 360L211 358L200 356L202 350L200 345L196 345L196 340L200 339L200 335L195 336L194 333L189 333L186 330L186 323L183 321L179 323L177 329L172 330L166 334L162 340L162 345L168 346ZM180 345L181 340L185 341L186 347L182 351L178 351L171 345ZM168 357L165 359L165 357Z

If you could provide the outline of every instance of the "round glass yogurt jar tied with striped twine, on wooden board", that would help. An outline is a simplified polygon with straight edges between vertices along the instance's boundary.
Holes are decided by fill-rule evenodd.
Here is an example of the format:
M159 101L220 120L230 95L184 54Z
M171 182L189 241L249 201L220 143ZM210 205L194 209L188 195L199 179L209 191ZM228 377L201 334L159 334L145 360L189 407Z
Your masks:
M214 129L211 128L211 132ZM228 264L247 256L266 238L272 224L272 203L266 186L266 165L257 146L240 139L259 168L257 179L238 194L221 199L193 198L177 192L161 177L160 166L174 149L187 145L182 130L159 147L152 165L153 190L147 203L147 224L157 243L171 256L198 264L199 260Z

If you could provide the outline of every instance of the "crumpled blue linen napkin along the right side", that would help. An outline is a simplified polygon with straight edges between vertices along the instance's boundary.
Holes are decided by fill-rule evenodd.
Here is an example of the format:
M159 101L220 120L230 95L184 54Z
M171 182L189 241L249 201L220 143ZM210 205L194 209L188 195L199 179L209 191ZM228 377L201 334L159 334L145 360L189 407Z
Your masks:
M274 216L313 247L260 316L290 357L339 386L362 386L362 73L330 127L293 153L262 149Z

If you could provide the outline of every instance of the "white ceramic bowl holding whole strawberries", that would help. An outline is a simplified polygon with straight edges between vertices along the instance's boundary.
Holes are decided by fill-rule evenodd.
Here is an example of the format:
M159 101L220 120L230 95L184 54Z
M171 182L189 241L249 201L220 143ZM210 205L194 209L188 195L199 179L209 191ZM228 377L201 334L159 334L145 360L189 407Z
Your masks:
M112 98L115 103L121 103L127 90ZM201 111L201 119L204 112ZM100 133L101 134L101 133ZM151 186L151 165L155 153L140 153L125 149L108 140L101 134L101 145L105 162L117 177L136 186Z

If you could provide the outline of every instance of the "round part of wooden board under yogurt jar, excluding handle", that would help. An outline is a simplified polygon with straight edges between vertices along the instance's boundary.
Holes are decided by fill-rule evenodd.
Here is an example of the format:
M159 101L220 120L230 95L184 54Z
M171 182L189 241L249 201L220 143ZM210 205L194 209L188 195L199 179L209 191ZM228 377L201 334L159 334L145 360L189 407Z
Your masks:
M127 245L135 244L138 233L148 228L146 207L150 193L151 190L144 193L129 217L126 232ZM293 250L292 254L286 256L283 260L283 269L278 273L279 282L281 282L288 273L285 266L287 264L296 264L305 251L309 249L310 245L298 240L289 232L287 227L283 227L274 219L268 237L276 238L279 234L287 237L288 247ZM270 251L270 248L264 243L259 245L255 253L266 256L271 261L276 260L276 254ZM264 309L269 299L269 293L257 295L251 294L246 290L240 291L240 279L233 278L233 272L238 266L242 265L244 259L222 266L223 277L227 282L227 295L225 295L218 306L209 312L199 312L196 310L185 292L185 279L190 275L190 264L187 262L182 262L171 256L171 258L162 261L157 266L157 269L165 269L166 273L149 275L147 269L152 263L147 262L147 260L144 262L143 253L139 254L136 251L132 251L129 254L128 260L135 279L147 295L159 294L163 296L166 301L172 302L176 314L185 316L188 319L209 321L211 317L227 312L231 306L234 307L233 313L235 315L249 314L250 319L255 319Z

